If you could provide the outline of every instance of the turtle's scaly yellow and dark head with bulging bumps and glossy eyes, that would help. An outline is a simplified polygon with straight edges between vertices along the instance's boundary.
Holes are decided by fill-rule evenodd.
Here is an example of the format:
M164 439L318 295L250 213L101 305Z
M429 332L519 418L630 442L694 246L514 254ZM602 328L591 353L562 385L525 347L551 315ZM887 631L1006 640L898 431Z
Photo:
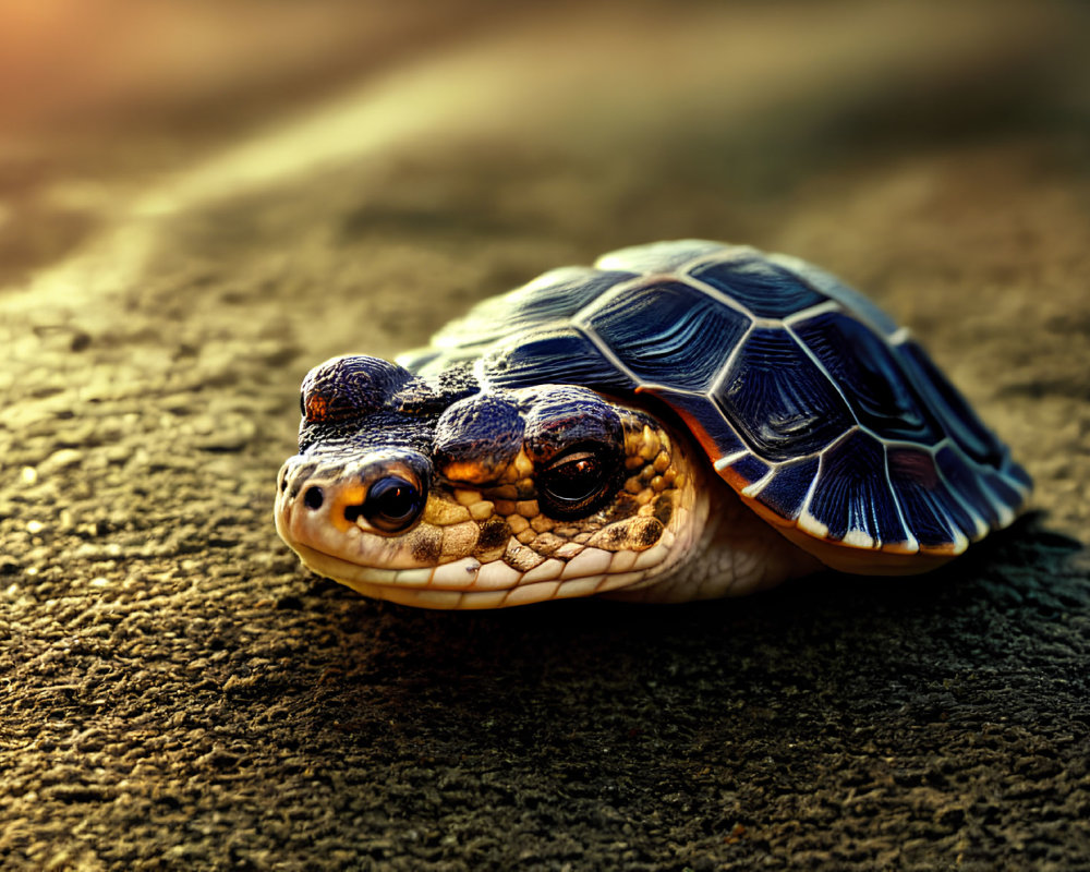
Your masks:
M488 608L623 595L676 569L704 525L685 439L585 388L480 390L352 356L313 370L301 404L277 529L368 596Z

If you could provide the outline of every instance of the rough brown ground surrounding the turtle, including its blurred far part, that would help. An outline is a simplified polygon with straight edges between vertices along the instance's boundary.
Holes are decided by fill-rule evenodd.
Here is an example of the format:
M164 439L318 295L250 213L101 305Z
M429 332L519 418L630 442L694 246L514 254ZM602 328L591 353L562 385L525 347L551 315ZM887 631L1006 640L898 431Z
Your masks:
M1090 869L1081 9L86 9L0 28L0 867ZM683 235L868 289L1034 512L698 607L296 567L311 365Z

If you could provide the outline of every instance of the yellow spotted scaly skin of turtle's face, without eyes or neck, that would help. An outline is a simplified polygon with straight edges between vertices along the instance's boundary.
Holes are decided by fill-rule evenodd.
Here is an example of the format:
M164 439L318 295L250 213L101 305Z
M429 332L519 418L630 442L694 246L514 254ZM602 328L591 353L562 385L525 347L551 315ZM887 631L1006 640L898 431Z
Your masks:
M365 457L325 472L293 459L281 471L277 528L316 572L410 605L487 608L646 583L687 553L706 502L697 499L691 458L666 429L637 410L616 409L620 486L585 517L542 510L535 463L520 447L492 469L457 458L446 463L419 520L395 535L362 514L346 519L346 507L365 496ZM305 484L291 481L300 471ZM324 495L317 509L305 504L311 487Z

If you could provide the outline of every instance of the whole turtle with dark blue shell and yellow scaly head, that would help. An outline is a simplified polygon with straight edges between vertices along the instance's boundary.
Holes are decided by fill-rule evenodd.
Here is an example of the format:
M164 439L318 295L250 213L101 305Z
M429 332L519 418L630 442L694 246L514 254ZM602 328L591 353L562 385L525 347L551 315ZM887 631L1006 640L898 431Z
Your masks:
M432 608L924 572L1032 487L873 302L704 240L553 269L393 362L334 358L300 404L280 536L322 576Z

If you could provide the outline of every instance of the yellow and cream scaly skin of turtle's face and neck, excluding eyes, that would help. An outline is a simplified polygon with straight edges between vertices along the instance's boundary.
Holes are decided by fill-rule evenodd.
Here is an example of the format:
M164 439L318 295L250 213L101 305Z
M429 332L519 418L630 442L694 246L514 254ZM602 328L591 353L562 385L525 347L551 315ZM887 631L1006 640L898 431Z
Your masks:
M646 412L610 405L623 432L623 477L586 517L542 511L535 464L523 446L498 468L448 463L462 481L433 477L419 521L390 535L352 511L364 500L370 461L340 448L284 463L277 530L319 574L366 596L431 608L595 594L677 602L748 593L813 571L815 561L722 482L708 481L685 437ZM317 509L306 505L312 487L324 494Z

